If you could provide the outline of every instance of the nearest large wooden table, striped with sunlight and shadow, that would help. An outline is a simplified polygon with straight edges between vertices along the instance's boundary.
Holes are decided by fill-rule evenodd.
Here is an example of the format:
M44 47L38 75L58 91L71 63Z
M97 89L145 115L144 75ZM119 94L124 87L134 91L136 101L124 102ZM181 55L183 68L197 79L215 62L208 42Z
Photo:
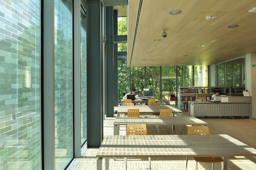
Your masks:
M106 159L108 170L108 158L219 156L223 157L224 170L227 170L228 156L254 155L256 149L229 135L111 135L103 139L96 157L97 170L102 170L102 158Z

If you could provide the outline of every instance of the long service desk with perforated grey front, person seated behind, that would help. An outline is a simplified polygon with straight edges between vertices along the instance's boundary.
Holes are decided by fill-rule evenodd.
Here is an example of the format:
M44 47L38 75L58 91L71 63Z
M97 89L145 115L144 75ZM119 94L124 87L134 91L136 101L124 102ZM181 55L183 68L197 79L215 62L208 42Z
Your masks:
M202 116L251 116L251 97L222 97L221 102L189 101L188 115Z

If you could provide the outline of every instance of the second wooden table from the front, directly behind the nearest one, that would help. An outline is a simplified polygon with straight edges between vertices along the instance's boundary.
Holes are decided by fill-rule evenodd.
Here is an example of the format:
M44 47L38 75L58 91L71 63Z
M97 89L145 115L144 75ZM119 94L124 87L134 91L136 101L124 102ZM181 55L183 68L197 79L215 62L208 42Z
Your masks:
M206 122L196 117L138 117L138 118L116 118L114 121L114 135L119 135L120 125L127 124L147 124L147 125L180 125L180 134L182 134L182 126L191 125L207 125Z

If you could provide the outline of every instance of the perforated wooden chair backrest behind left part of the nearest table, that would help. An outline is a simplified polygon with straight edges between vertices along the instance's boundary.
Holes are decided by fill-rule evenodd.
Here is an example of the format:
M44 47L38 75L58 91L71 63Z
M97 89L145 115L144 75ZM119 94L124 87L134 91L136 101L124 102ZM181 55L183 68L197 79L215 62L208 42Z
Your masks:
M126 135L147 135L146 124L128 124Z

